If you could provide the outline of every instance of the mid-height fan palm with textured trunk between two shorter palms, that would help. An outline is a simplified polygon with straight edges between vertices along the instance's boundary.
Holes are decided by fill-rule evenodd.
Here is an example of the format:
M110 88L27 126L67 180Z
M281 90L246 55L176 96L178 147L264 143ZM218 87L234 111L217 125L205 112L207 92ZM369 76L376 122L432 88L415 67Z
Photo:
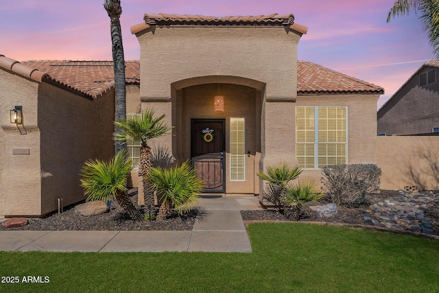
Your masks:
M154 110L147 109L139 116L115 121L115 125L120 130L119 133L115 133L116 141L126 143L127 139L132 139L141 143L139 176L141 176L143 182L145 204L152 206L154 206L154 191L152 190L148 175L152 167L153 156L148 142L150 139L161 137L171 130L172 127L163 122L163 118L165 118L165 115L154 117Z

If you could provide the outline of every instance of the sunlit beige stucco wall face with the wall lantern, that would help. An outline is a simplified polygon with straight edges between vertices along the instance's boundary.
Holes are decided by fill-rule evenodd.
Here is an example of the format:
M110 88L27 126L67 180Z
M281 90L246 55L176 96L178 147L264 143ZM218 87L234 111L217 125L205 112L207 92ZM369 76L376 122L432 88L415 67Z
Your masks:
M0 215L40 213L40 131L37 127L38 83L0 69L0 125L3 133L0 170ZM22 133L10 124L10 110L23 106ZM12 154L13 150L29 154Z

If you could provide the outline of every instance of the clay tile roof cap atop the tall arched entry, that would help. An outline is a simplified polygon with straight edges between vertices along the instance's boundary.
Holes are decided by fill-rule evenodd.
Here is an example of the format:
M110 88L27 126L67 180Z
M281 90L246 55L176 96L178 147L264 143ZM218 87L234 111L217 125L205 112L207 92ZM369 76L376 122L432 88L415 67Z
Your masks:
M286 26L291 30L296 30L301 34L306 34L308 28L304 25L294 23L293 14L269 14L269 15L256 15L256 16L203 16L203 15L180 15L180 14L153 14L146 13L143 16L144 23L133 25L131 27L132 34L137 34L152 25L227 25L227 26L239 26L239 25L258 25L258 26Z

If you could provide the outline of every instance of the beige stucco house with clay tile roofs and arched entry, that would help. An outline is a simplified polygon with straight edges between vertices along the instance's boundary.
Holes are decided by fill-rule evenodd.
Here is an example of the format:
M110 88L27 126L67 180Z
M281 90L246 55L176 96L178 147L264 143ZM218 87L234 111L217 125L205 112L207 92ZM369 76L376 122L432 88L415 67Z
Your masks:
M307 27L295 23L292 14L222 18L145 14L144 21L131 30L139 40L141 54L140 61L126 63L127 115L137 115L145 108L165 114L174 126L172 135L154 143L168 148L179 162L192 161L198 176L206 182L206 193L262 195L263 183L257 172L280 161L299 164L305 168L301 178L317 181L322 165L377 163L375 109L383 89L312 62L298 61L298 41L307 33ZM45 198L47 193L40 185L49 177L40 174L56 172L46 166L47 159L52 160L52 167L56 165L56 159L48 158L49 154L69 154L77 162L72 169L78 174L85 159L106 158L114 152L112 64L56 60L15 63L27 70L38 69L36 72L43 76L38 81L32 75L14 71L12 62L0 57L0 90L3 93L10 88L0 104L0 203L5 203L0 205L0 215L42 215L56 209L55 198L60 194L71 199L64 199L64 205L83 199L79 178L69 183L77 185L74 191L71 187L71 194L56 190L49 193L51 198ZM16 84L13 88L11 80ZM83 87L83 82L88 87ZM21 89L19 84L24 83L33 89L27 99L34 104L25 104L27 99L21 99L27 87ZM99 95L93 95L99 88ZM40 100L49 98L66 108L64 119L56 119L51 111L39 108ZM74 112L76 104L84 104L83 109ZM12 203L16 195L8 183L23 178L19 174L27 164L20 156L24 158L23 166L17 169L14 160L18 156L12 154L12 149L19 148L15 145L31 148L25 140L29 134L19 134L18 126L10 124L9 113L16 105L23 105L23 126L33 126L36 135L31 152L36 156L32 188L39 191L28 200L50 206L32 213L21 209L25 202ZM31 105L34 115L40 117L38 121L27 118ZM46 128L40 129L44 123ZM62 130L51 131L57 123L63 125ZM71 124L78 123L82 124L75 131L69 130ZM58 143L43 146L47 143L47 139L40 139L43 132L47 139L53 135ZM86 145L63 141L70 135L80 139L84 134L91 137L84 142ZM128 148L135 159L136 145ZM58 171L64 165L59 165ZM15 168L15 177L10 175L10 168ZM134 169L134 186L135 174Z

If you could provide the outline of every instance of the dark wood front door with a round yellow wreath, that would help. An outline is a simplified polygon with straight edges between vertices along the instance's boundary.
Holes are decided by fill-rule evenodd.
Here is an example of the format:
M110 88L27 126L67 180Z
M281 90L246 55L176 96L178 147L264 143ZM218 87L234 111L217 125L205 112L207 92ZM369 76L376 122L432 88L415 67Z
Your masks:
M224 192L226 135L224 119L191 120L191 158L203 192Z

